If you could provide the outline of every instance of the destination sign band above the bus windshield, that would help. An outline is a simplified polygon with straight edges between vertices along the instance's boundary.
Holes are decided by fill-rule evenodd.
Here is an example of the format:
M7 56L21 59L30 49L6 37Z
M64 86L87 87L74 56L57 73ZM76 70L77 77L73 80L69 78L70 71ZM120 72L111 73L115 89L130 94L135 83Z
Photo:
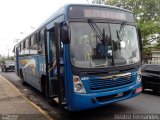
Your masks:
M108 19L134 22L131 12L107 6L70 6L68 10L68 17L71 19Z

